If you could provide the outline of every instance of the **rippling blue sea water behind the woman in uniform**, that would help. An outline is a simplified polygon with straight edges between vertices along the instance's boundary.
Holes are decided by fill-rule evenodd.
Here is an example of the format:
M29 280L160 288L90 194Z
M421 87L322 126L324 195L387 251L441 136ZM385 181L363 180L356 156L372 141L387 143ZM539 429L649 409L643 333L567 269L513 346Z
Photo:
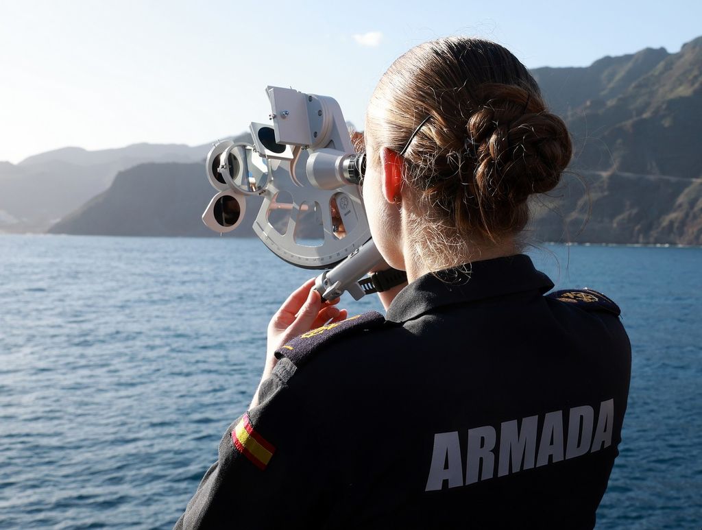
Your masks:
M702 249L530 254L614 298L633 345L597 528L700 528ZM270 315L312 275L258 239L0 236L0 527L170 528L251 398Z

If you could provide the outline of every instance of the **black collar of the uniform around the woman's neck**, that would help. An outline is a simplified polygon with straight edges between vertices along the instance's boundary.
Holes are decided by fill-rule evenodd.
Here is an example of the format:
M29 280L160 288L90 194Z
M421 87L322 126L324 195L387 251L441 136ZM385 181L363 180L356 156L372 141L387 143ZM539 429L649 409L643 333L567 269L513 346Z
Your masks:
M416 279L392 300L385 319L406 322L444 305L551 289L553 282L524 254L476 261Z

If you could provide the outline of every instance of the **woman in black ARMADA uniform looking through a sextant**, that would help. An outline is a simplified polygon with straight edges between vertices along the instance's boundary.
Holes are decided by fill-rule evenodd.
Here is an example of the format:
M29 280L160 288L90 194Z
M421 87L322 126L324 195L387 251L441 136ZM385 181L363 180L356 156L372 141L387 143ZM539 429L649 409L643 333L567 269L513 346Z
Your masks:
M571 158L563 122L511 53L452 38L388 69L365 141L373 239L409 285L343 322L312 281L291 295L176 526L592 528L629 341L611 300L545 295L519 253Z

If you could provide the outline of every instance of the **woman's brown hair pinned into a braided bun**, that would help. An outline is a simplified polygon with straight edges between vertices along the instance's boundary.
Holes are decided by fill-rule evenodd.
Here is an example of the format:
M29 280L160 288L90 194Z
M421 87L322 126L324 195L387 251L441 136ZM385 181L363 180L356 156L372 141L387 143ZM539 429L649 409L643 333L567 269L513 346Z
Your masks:
M452 265L444 254L466 241L513 238L529 220L529 195L555 187L572 152L527 68L502 46L467 38L420 44L395 60L371 98L365 141L371 171L383 148L406 145L408 236L432 269Z

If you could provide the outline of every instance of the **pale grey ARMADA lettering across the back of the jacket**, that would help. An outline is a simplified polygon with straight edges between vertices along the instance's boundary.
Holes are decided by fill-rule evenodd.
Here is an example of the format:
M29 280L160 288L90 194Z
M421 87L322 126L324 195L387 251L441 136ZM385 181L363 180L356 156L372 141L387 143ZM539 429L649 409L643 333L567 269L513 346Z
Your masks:
M564 418L567 436L564 436ZM541 432L538 432L539 423ZM498 430L491 425L468 429L465 479L458 431L439 432L434 435L425 491L440 490L444 484L449 488L468 486L493 478L495 472L498 477L504 477L606 449L612 442L613 423L614 399L607 399L600 404L596 425L595 411L583 405L567 412L549 412L541 418L527 416L520 421L505 421Z

